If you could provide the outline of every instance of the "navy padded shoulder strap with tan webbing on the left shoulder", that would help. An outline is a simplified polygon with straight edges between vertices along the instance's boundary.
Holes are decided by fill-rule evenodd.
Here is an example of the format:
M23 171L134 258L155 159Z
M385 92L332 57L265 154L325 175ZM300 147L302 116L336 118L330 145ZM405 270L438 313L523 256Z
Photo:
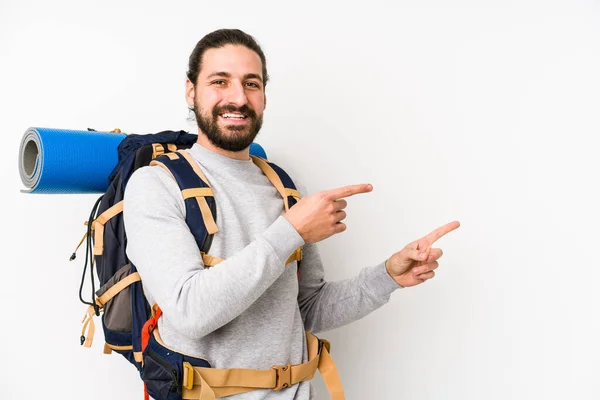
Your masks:
M186 208L185 222L198 248L207 253L213 235L219 231L215 222L217 208L208 179L186 151L166 153L150 162L166 169L179 185Z

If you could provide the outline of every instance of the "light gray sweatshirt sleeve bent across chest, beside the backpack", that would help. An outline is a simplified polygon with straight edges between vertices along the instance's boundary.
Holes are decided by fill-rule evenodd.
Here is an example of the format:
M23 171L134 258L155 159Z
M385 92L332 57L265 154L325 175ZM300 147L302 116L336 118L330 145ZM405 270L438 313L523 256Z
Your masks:
M246 310L284 271L304 242L279 217L245 248L204 268L185 222L177 183L160 167L136 170L125 189L126 252L144 290L182 335L199 339ZM252 268L247 268L252 265Z

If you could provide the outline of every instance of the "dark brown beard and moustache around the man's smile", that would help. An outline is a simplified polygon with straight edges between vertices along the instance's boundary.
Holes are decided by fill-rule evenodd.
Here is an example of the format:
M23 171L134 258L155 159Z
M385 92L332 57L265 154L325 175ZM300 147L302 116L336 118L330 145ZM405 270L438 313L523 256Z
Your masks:
M226 125L221 128L218 123L219 114L232 112L244 114L250 123L244 126ZM212 109L212 113L208 113L194 100L194 114L198 128L208 140L214 146L227 151L237 152L250 147L262 127L262 115L257 116L256 112L246 104L241 107L227 104L215 107Z

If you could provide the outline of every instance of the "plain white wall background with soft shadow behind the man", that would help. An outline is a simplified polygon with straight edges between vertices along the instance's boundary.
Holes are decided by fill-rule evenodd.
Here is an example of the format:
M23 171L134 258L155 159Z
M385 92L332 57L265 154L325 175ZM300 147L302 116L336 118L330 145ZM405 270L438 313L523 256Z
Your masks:
M68 257L97 196L20 193L19 143L30 126L194 131L187 58L222 27L267 55L269 157L310 192L374 185L320 244L328 279L462 224L434 280L322 335L348 399L600 398L592 0L2 0L0 398L141 399L100 329L79 346Z

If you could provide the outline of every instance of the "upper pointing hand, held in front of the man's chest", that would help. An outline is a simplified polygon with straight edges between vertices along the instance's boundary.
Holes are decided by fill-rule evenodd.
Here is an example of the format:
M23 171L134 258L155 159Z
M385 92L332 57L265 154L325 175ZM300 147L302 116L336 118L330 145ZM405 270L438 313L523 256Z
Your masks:
M304 197L285 213L305 243L316 243L346 230L344 197L373 190L370 184L350 185Z

